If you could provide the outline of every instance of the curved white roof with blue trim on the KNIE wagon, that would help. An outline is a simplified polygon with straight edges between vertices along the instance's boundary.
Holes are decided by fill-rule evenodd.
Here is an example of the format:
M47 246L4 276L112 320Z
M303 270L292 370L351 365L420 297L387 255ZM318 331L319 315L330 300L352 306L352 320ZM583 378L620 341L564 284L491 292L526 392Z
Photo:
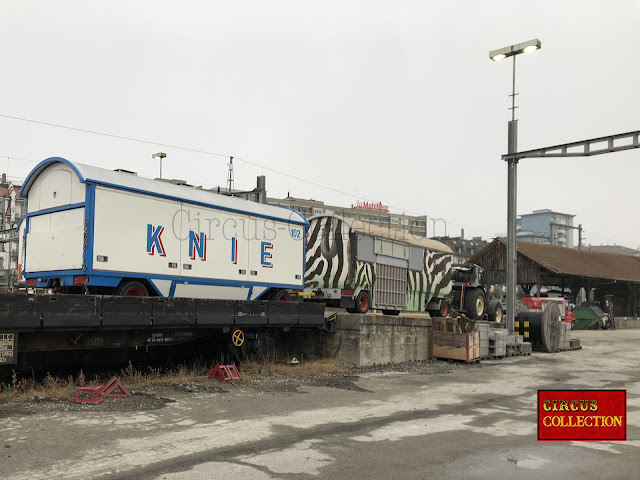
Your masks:
M38 176L47 168L56 163L68 165L78 176L82 183L94 183L113 188L120 188L132 192L163 197L187 203L210 206L223 210L239 213L249 213L261 217L273 218L289 223L307 225L307 220L295 210L274 205L250 202L236 197L220 195L208 190L201 190L187 185L174 185L172 183L150 178L139 177L133 173L107 170L105 168L70 162L64 158L51 157L40 162L27 176L20 195L27 197L29 189Z

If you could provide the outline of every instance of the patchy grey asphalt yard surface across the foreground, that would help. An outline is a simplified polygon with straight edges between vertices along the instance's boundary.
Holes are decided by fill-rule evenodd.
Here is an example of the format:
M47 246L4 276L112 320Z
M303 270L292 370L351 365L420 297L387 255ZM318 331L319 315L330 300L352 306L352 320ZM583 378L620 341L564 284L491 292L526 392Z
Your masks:
M240 388L175 393L153 411L0 418L0 471L11 479L638 478L640 330L574 336L583 350L440 375L368 373L357 391ZM628 440L538 442L541 388L627 389Z

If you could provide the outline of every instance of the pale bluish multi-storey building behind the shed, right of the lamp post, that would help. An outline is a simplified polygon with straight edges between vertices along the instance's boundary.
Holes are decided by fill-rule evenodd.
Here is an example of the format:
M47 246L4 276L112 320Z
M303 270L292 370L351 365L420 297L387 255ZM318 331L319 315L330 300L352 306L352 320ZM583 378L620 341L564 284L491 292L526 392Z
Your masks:
M534 210L520 215L517 224L519 242L544 243L560 247L573 247L573 217L553 210ZM567 227L564 227L566 225Z

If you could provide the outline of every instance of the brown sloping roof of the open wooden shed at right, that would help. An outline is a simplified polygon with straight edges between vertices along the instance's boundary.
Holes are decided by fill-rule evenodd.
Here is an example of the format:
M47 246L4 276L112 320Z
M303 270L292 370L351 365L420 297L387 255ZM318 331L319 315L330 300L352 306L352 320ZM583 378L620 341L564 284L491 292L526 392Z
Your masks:
M505 238L496 240L506 246ZM527 242L518 242L518 253L557 274L640 282L640 258L629 255ZM478 253L481 254L482 251Z

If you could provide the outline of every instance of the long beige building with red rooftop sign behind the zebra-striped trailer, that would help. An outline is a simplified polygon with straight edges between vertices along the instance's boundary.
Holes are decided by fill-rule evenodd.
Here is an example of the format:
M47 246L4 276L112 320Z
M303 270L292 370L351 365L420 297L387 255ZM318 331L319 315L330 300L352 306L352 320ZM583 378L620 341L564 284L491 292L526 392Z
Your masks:
M427 216L412 216L404 213L391 213L389 207L381 202L358 201L350 207L326 205L319 200L306 200L288 196L287 198L267 198L270 205L291 208L304 215L338 215L343 218L361 220L391 230L409 233L417 238L427 237Z

